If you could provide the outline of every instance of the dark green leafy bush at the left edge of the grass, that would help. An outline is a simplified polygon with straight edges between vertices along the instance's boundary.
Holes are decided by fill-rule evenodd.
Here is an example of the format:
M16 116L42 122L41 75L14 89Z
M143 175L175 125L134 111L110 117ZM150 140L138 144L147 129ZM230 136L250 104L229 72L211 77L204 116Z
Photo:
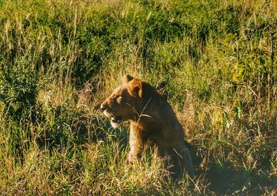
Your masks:
M24 62L3 64L0 70L0 104L3 114L19 122L32 119L37 103L38 77Z

